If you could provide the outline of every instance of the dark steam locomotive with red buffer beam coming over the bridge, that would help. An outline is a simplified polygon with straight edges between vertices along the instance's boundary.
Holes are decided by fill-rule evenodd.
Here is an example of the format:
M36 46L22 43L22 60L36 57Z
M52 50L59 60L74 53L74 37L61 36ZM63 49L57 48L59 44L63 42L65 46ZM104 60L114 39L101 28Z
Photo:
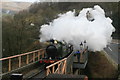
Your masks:
M60 42L52 39L47 42L49 42L49 45L46 47L45 58L41 59L40 63L52 64L67 57L73 51L73 46L64 41Z

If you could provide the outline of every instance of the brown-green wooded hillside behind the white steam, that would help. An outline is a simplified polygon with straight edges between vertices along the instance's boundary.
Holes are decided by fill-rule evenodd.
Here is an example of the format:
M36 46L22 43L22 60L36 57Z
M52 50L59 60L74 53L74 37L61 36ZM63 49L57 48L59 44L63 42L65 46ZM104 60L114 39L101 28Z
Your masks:
M28 10L20 11L14 16L3 16L3 57L32 51L43 47L39 42L40 26L49 24L57 18L59 13L76 10L76 15L84 7L93 7L99 4L105 9L106 16L113 19L117 28L114 38L118 38L118 3L34 3ZM112 14L110 12L112 11Z

